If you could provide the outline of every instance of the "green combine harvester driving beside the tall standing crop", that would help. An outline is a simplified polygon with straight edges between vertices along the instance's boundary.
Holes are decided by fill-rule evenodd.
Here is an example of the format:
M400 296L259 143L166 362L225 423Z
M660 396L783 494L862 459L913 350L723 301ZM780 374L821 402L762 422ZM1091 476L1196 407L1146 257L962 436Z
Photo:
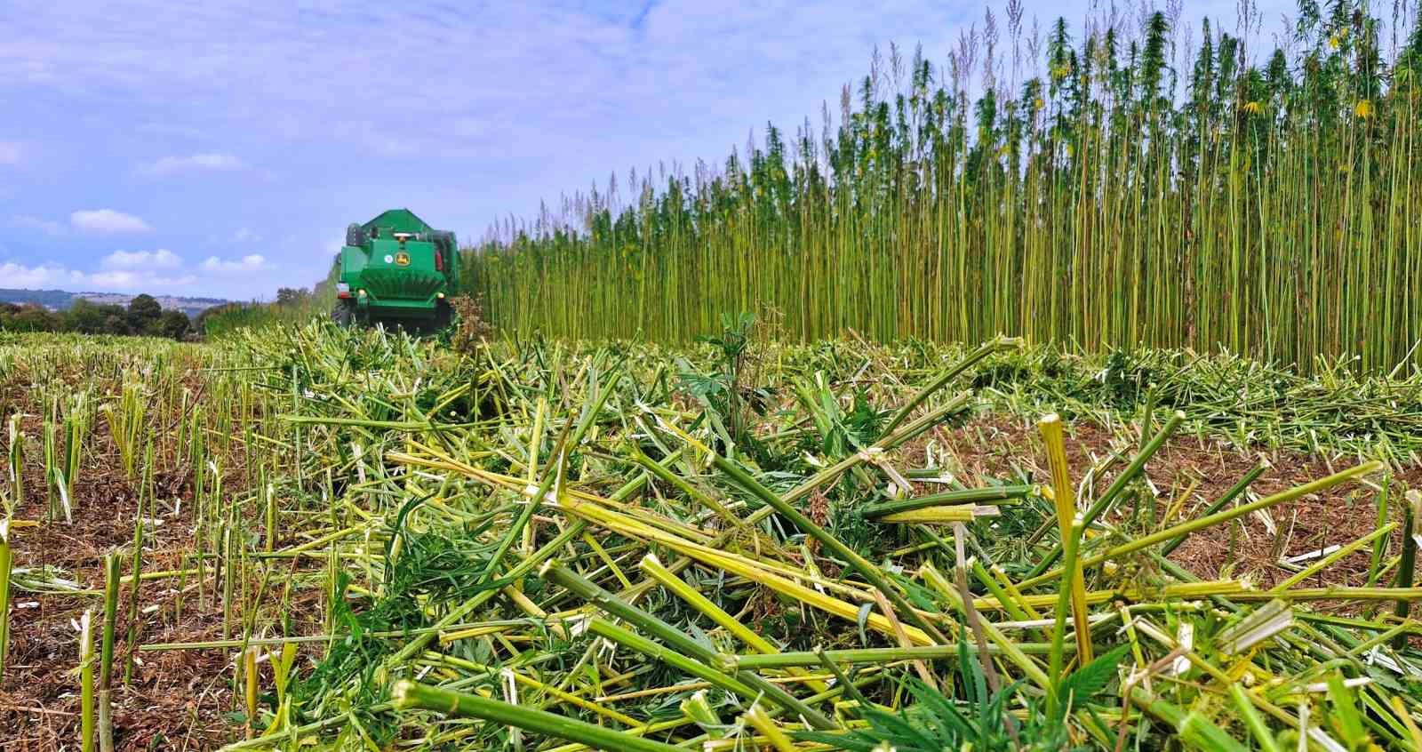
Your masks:
M459 284L459 246L410 209L346 229L331 318L343 326L438 330L449 324Z

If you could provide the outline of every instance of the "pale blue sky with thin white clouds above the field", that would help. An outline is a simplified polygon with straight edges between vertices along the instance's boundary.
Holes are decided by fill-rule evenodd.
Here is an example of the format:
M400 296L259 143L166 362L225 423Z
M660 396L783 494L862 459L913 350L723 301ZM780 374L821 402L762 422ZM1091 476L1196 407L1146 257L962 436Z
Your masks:
M876 45L941 63L985 7L1004 24L1005 0L6 0L0 287L270 297L387 208L476 237L766 121L818 128ZM1025 0L1025 24L1079 38L1092 7ZM1260 4L1266 36L1290 9ZM1236 3L1182 24L1206 14L1234 28Z

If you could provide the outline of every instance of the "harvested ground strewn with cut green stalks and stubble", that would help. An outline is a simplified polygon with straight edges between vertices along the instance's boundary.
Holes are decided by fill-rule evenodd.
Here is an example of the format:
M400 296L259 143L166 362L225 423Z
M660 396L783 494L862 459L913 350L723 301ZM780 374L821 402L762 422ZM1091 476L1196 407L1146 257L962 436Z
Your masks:
M9 707L55 749L1416 748L1418 377L744 334L0 343Z

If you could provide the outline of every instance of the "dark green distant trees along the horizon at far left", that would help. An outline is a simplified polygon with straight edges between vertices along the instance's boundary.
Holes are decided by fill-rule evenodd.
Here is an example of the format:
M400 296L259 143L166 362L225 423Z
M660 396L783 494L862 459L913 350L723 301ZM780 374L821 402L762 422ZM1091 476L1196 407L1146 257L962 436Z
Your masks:
M193 327L183 311L164 310L154 296L141 294L128 306L78 299L63 311L34 303L0 303L0 331L74 331L182 340Z

